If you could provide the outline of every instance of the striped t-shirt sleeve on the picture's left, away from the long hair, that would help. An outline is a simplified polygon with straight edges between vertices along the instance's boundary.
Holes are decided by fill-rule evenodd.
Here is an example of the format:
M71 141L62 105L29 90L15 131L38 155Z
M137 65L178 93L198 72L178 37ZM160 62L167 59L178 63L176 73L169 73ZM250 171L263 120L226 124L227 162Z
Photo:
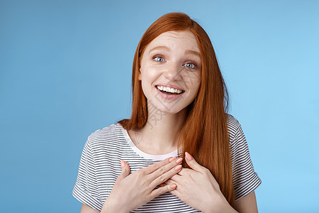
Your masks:
M72 195L79 202L86 204L92 209L101 211L103 207L96 181L94 155L91 151L89 140L86 141L82 151L77 182L75 182L73 187Z

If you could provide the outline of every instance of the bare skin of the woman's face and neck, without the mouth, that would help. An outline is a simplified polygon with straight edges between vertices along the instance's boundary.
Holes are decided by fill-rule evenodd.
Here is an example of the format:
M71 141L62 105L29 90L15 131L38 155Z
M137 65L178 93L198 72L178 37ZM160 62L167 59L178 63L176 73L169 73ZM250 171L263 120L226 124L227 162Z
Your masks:
M195 35L190 31L169 31L152 40L142 55L138 79L148 109L159 111L162 116L154 121L148 114L142 129L128 131L130 138L145 153L160 155L175 151L186 107L193 102L200 86L201 57ZM167 101L155 88L164 83L181 87L185 92L179 99ZM142 134L142 141L134 141L135 133Z

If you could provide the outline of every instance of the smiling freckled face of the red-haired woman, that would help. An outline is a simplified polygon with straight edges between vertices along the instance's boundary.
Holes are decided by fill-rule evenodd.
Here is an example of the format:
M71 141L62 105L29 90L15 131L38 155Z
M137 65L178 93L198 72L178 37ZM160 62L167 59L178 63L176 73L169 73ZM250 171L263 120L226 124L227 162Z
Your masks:
M191 31L168 31L147 45L138 79L147 105L176 114L194 101L201 82L201 54Z

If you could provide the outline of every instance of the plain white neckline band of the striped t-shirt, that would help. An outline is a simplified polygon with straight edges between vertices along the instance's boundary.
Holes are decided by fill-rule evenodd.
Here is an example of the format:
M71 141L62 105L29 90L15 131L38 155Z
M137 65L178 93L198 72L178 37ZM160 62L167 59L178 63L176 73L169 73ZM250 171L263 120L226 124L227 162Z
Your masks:
M167 153L167 154L164 154L164 155L150 155L150 154L147 154L147 153L141 151L133 143L132 139L128 135L128 131L126 131L126 129L124 129L123 126L121 126L121 124L118 124L118 126L121 127L121 130L122 130L123 136L125 138L125 141L128 143L130 148L132 148L133 151L135 151L135 153L137 153L138 155L140 155L140 156L142 156L144 158L147 158L147 159L151 159L151 160L164 160L164 159L169 158L169 157L177 157L177 155L178 155L177 150L172 151L172 153Z

